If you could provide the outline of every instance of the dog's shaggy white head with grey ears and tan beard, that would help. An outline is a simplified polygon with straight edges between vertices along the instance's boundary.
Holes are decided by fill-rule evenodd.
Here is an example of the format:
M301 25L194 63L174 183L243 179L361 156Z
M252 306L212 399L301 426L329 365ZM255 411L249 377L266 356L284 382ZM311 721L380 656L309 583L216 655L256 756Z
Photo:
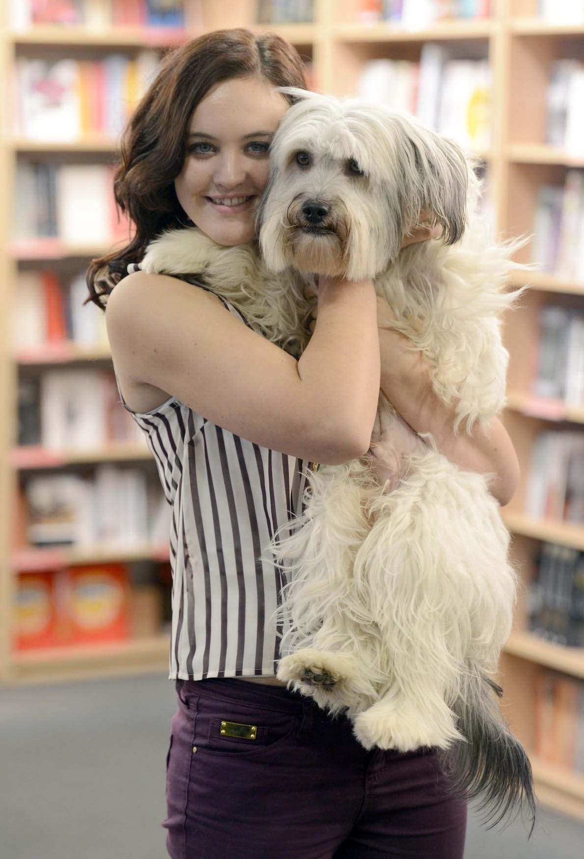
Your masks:
M435 212L444 241L459 240L474 174L455 143L360 99L283 92L299 101L271 143L257 222L272 271L375 277L422 209Z

